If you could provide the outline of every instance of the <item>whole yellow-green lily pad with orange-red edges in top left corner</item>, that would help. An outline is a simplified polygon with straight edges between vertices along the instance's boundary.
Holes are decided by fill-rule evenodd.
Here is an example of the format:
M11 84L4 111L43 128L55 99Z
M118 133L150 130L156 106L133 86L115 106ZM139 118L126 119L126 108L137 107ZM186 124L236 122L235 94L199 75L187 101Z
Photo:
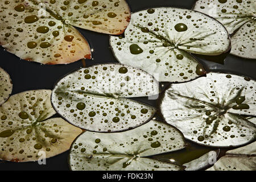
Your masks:
M124 0L1 1L0 8L1 46L24 60L42 64L91 58L88 42L72 26L122 34L130 19Z

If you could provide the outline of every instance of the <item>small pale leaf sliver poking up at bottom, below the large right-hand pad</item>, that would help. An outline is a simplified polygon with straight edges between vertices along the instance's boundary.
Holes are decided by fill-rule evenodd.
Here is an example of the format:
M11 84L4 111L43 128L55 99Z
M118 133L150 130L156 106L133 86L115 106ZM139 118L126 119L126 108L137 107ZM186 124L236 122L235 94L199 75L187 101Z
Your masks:
M220 153L220 150L217 150L217 151L212 150L207 154L200 156L200 158L197 158L195 160L192 160L191 162L183 164L183 166L186 167L185 171L197 171L197 170L206 168L211 164L214 164L217 160L219 153Z

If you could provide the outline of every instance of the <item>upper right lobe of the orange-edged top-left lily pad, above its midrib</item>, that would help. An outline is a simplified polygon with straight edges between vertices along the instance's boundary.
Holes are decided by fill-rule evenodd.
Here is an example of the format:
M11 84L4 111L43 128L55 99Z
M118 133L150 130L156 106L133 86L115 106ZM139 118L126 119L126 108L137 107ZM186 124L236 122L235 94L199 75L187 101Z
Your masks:
M42 2L47 2L49 9L63 15L65 23L105 34L122 34L131 18L130 8L125 0L42 0Z

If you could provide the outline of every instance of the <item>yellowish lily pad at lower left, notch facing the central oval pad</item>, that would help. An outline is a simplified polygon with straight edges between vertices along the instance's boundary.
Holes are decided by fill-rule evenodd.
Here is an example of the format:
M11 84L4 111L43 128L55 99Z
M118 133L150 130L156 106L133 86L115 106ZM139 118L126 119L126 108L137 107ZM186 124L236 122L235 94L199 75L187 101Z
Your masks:
M82 130L61 118L48 119L55 114L50 97L51 90L31 90L0 106L1 160L34 161L69 149Z

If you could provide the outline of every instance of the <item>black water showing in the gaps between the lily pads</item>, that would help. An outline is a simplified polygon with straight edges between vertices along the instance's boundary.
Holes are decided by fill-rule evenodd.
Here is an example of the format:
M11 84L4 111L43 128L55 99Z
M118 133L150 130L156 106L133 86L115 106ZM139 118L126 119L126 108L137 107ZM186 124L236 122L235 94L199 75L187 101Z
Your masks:
M192 9L195 0L127 0L131 12L151 7L180 7ZM92 31L81 30L82 35L88 40L92 52L92 60L86 60L86 66L100 63L117 63L109 47L109 35L99 34ZM16 94L25 90L52 89L59 78L67 73L82 67L82 61L76 61L68 65L41 65L20 60L19 57L0 48L0 67L5 69L13 80L13 93ZM219 61L216 58L216 61ZM239 75L256 78L255 60L242 59L233 55L225 58L224 64L200 59L207 71L220 71L237 73ZM148 101L139 98L147 104L156 106L156 101ZM46 165L39 165L37 162L13 163L0 160L0 170L68 170L68 151L46 160Z

